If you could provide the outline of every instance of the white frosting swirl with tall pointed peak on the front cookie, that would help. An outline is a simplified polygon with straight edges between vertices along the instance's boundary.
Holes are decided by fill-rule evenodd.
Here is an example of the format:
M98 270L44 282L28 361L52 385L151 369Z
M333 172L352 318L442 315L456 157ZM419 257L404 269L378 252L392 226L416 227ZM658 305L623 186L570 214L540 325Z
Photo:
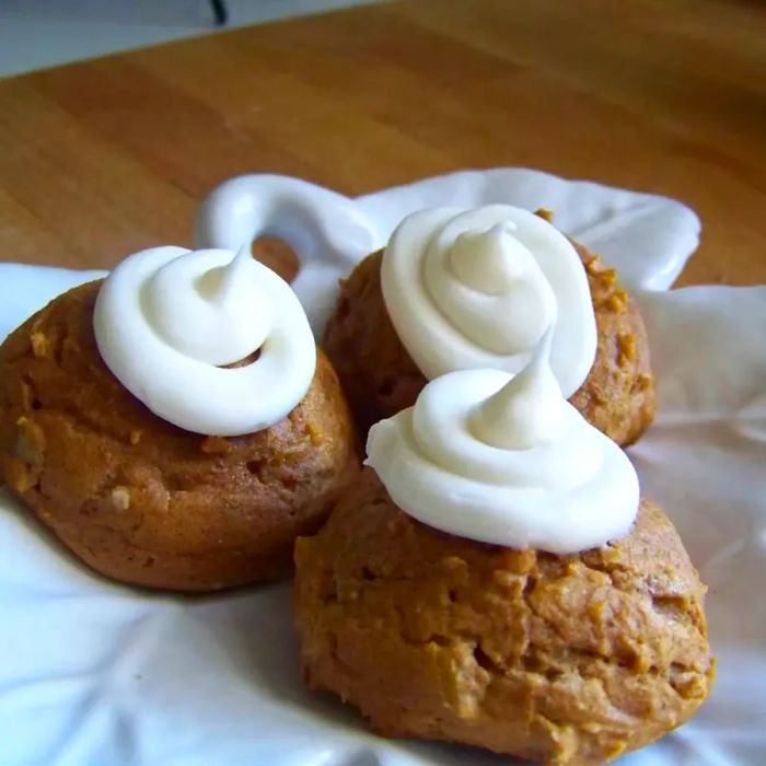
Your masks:
M462 370L370 430L367 464L425 524L483 543L568 554L630 531L638 477L562 396L550 332L513 376Z

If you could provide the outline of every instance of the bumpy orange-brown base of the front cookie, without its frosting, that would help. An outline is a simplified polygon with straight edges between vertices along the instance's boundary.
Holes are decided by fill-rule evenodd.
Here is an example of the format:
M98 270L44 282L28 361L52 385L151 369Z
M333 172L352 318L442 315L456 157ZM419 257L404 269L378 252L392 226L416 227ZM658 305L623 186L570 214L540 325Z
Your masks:
M425 526L365 471L295 561L309 686L386 736L599 764L686 721L712 683L705 588L649 502L619 543L555 556Z

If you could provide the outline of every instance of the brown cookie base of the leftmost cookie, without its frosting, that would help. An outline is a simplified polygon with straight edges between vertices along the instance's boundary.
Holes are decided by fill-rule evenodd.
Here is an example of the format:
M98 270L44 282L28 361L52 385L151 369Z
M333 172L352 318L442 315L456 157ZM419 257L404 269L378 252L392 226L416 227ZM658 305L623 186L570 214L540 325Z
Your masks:
M115 580L210 591L286 573L295 536L320 526L358 473L332 365L320 353L305 398L266 431L190 433L103 363L98 287L56 299L0 347L0 477Z

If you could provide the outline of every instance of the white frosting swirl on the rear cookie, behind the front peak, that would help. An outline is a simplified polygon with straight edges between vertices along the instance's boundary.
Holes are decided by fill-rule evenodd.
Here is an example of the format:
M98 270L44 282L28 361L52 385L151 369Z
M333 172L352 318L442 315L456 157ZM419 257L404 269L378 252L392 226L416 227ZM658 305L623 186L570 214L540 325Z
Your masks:
M381 283L396 333L428 379L474 368L519 372L552 325L550 365L565 396L593 364L595 315L580 258L527 210L416 212L384 251Z

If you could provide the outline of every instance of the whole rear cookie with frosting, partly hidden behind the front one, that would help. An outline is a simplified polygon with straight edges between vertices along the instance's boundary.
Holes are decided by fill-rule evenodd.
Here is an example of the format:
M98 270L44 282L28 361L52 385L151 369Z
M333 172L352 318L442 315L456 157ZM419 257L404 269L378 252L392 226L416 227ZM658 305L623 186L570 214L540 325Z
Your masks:
M614 269L542 214L492 205L406 218L341 283L324 347L360 428L411 406L433 378L518 372L555 326L565 396L619 444L654 413L643 321Z

